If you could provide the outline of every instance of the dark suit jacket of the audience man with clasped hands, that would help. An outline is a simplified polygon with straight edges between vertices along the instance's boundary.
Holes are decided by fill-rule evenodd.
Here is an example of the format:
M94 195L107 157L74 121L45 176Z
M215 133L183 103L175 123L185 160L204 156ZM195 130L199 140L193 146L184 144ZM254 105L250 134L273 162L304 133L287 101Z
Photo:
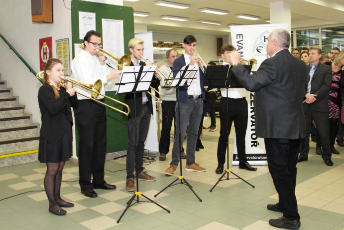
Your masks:
M310 80L309 76L309 65L307 66L307 78L305 81L305 91L307 93L307 85ZM311 81L311 93L317 94L317 100L311 104L304 103L303 110L306 113L308 108L311 108L314 111L319 112L328 112L329 111L329 92L331 89L332 82L332 70L331 66L322 64L319 62Z

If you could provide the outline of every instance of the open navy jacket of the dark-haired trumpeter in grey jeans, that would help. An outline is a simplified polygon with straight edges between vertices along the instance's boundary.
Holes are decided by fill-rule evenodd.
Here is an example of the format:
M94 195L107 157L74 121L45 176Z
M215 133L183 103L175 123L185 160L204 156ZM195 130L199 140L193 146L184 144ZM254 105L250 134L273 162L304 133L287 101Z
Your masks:
M182 54L173 62L173 76L175 77L178 74L177 70L180 70L183 66L185 66L185 58ZM204 91L204 79L205 79L205 73L202 72L200 68L198 68L200 71L200 83L201 83L201 91L202 91L202 100L206 100L206 93ZM188 87L181 87L179 88L179 98L178 98L178 92L176 91L176 98L177 101L186 101L188 99Z

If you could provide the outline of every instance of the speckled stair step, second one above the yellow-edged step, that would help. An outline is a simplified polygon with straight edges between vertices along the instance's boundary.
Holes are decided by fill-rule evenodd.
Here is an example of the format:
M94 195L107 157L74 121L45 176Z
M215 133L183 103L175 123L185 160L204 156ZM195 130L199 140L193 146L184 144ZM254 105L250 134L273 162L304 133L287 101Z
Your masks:
M19 137L30 137L38 134L38 125L0 128L0 140Z

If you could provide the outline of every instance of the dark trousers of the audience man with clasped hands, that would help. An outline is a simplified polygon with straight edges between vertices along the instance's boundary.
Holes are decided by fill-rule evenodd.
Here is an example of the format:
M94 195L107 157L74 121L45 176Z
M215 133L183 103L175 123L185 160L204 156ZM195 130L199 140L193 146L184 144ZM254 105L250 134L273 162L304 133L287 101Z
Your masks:
M309 135L311 133L311 124L314 120L319 133L320 142L323 148L322 158L324 160L331 159L331 144L330 144L330 122L329 112L319 112L308 108L305 112L306 118L306 137L301 140L300 157L308 159L309 153Z

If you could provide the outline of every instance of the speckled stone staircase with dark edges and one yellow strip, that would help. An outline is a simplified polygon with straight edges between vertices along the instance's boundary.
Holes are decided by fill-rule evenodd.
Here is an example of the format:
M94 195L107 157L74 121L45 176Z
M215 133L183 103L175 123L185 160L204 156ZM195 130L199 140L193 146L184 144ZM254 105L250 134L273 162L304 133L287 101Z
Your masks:
M38 142L39 124L32 124L0 74L0 167L37 161Z

